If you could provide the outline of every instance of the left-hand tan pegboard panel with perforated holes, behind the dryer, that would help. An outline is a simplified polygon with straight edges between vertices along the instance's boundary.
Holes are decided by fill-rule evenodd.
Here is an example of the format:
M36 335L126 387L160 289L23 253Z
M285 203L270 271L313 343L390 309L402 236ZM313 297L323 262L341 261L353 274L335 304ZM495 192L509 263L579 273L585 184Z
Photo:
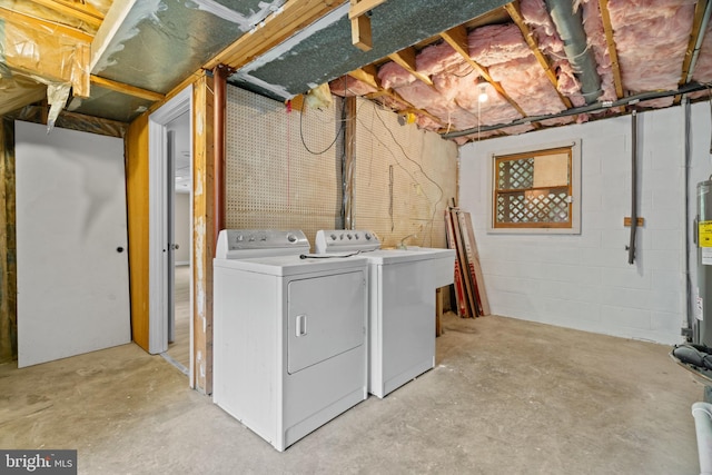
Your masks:
M301 229L312 244L317 230L343 228L342 107L334 98L323 111L288 111L228 86L228 228Z

